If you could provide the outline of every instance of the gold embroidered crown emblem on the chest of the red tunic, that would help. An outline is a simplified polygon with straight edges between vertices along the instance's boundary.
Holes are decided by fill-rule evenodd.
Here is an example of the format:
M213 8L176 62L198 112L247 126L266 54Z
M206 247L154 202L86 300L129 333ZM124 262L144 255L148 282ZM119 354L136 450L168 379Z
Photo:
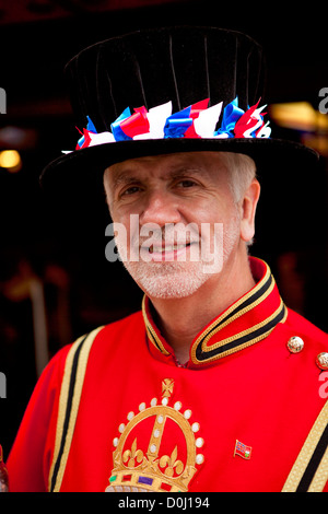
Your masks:
M190 409L180 401L171 407L174 382L162 382L162 400L153 398L150 407L140 404L139 412L129 412L128 423L119 425L114 439L114 468L106 492L186 492L203 463L197 453L203 446L196 437L199 423L190 423Z

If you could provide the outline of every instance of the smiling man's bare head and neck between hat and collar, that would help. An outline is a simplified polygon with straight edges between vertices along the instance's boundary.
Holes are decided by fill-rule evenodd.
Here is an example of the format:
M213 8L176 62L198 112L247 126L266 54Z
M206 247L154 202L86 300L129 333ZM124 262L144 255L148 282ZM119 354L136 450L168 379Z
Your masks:
M241 192L238 188L247 174L233 177L227 155L232 162L249 161L248 180ZM234 166L241 172L236 162ZM151 299L162 334L181 363L188 361L190 341L202 327L255 285L246 247L254 235L259 197L259 183L254 176L255 165L247 155L225 152L141 157L118 163L105 172L114 222L129 227L131 215L138 214L143 231L147 225L153 231L159 227L150 258L142 258L142 252L148 253L149 247L142 248L143 242L138 238L140 259L128 260L126 265ZM184 230L191 223L198 229L195 236L188 236ZM203 241L201 227L206 232L207 226L212 229L215 223L223 227L223 241L213 254L216 258L220 252L224 254L222 264L219 259L218 270L211 262L203 261L204 250L201 252L201 245L210 247L210 243ZM169 226L177 224L180 224L180 232L169 233ZM140 226L137 226L137 234ZM127 241L131 241L129 232ZM196 252L194 260L190 259L192 252ZM125 253L122 248L121 255Z

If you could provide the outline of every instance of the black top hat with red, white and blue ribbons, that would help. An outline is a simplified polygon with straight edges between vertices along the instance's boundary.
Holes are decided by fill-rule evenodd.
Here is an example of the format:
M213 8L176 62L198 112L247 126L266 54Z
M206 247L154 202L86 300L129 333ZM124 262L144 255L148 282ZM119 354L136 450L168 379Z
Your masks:
M292 163L297 176L318 160L315 151L300 143L259 137L258 126L257 133L248 131L242 137L234 124L226 127L235 108L237 119L243 113L257 114L265 127L257 105L263 85L262 50L242 33L191 26L140 31L82 50L67 65L66 73L77 125L85 127L87 120L89 125L78 149L44 170L44 187L68 190L69 183L77 184L79 177L79 186L85 183L90 190L91 182L101 184L104 170L116 162L175 152L245 153L260 172L277 173ZM208 107L218 107L220 117L211 133L204 131L199 137L197 128L190 132L199 114L192 117L190 106L206 98ZM149 113L163 104L164 109L172 107L172 113L178 114L162 119L162 135L153 139L151 133L144 135L150 131ZM127 114L127 107L142 109L133 117ZM184 112L187 107L189 110ZM186 127L181 128L181 110L189 136ZM134 136L136 118L145 122L145 128L139 128L141 137ZM121 121L127 119L131 125L126 129ZM178 124L176 132L169 129L172 120L173 127Z

